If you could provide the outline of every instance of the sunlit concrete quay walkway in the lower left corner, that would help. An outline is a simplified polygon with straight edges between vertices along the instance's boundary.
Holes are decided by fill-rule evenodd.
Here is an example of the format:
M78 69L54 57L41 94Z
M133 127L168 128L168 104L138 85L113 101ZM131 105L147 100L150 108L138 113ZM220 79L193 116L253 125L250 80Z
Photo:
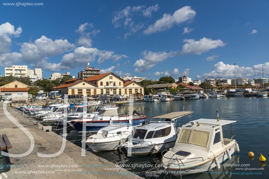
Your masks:
M7 112L11 117L6 116ZM16 120L19 123L17 125L22 127L15 125L10 118ZM119 178L120 175L124 175L124 178L141 178L89 151L82 156L80 147L54 132L43 131L15 109L9 106L3 108L3 103L0 103L0 119L0 134L6 134L12 145L8 151L11 163L6 164L10 166L10 170L4 173L8 178L112 179ZM65 147L61 152L63 140ZM43 157L44 154L54 156ZM12 157L14 155L20 157ZM111 170L115 168L117 170Z

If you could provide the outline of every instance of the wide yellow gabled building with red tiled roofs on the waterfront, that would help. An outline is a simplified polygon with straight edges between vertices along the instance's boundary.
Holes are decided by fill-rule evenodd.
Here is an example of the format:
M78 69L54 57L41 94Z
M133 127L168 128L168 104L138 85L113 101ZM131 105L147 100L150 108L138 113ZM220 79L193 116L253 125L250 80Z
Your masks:
M135 81L124 81L116 74L110 72L86 79L77 78L65 81L64 84L54 88L62 94L68 95L123 95L142 93L144 86Z

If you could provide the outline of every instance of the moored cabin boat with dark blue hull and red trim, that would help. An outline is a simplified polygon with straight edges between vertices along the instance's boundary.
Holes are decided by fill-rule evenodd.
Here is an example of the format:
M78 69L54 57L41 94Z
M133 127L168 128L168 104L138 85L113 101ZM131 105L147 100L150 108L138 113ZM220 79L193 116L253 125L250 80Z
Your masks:
M98 115L93 118L81 118L77 120L73 120L70 123L75 127L77 132L79 133L96 133L102 127L108 126L116 121L123 122L127 124L131 124L130 126L142 125L143 122L147 121L147 117L140 114L136 110L132 115L119 116L118 107L104 107L100 108ZM83 124L86 124L86 128L83 130Z

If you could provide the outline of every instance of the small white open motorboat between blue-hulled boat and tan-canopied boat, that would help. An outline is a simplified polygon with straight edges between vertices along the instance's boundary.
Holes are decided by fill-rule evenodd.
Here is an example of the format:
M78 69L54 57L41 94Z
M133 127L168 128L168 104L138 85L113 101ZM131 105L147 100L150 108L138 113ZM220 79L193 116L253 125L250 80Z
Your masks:
M112 121L110 126L101 128L96 134L89 136L85 143L94 151L117 150L117 145L126 142L136 126L129 126L124 122Z

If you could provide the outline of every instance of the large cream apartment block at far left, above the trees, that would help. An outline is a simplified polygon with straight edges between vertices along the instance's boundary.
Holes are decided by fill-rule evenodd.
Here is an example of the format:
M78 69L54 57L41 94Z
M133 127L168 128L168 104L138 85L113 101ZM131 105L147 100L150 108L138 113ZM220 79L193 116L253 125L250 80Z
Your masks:
M28 69L27 65L12 65L12 67L5 67L5 76L37 76L43 79L43 71L41 68Z

